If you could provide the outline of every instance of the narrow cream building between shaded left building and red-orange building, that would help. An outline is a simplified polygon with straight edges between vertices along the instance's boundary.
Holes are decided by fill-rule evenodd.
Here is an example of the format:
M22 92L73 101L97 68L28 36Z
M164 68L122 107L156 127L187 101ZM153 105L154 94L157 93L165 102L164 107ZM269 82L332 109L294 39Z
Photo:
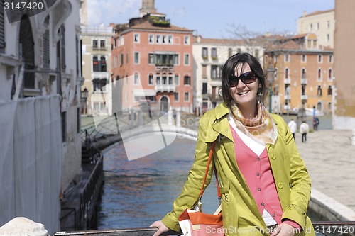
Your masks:
M112 27L81 26L82 40L82 114L112 114L111 37ZM105 99L102 99L104 96Z

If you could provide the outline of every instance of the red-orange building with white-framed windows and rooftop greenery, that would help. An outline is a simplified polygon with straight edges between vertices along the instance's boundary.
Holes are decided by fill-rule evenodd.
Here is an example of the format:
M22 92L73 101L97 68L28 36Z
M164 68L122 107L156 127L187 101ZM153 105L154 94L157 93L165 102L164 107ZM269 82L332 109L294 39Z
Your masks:
M144 12L142 12L144 10ZM146 13L111 24L112 80L123 79L123 108L149 101L151 108L192 112L192 30L170 24L163 13Z

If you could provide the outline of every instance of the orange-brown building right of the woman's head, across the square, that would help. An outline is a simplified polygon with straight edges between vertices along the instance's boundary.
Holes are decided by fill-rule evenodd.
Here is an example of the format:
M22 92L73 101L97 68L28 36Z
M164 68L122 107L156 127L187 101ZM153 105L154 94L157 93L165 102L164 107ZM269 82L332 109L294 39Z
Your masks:
M272 82L274 113L316 108L332 113L333 50L319 45L314 33L275 41L265 52L264 69Z

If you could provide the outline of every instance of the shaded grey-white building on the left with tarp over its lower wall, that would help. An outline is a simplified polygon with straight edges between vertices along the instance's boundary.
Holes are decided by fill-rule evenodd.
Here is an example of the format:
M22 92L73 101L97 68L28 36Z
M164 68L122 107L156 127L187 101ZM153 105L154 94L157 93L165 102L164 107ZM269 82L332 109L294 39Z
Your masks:
M80 0L34 16L0 5L0 225L21 215L53 235L81 172Z

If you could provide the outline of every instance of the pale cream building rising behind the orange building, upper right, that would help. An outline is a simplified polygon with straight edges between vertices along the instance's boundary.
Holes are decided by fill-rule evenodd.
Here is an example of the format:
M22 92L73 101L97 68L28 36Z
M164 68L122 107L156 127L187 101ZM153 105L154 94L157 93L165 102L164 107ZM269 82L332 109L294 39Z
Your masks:
M334 9L327 11L315 11L297 19L297 34L315 33L318 44L324 47L334 48Z

